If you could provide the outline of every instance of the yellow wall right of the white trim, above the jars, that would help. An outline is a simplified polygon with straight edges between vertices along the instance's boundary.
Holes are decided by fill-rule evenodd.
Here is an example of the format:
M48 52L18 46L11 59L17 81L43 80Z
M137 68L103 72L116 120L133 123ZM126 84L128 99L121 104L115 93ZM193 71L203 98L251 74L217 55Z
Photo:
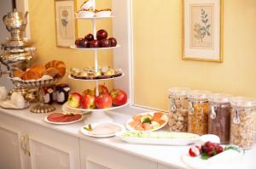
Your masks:
M224 62L184 61L182 0L133 0L135 103L167 110L169 87L256 98L256 1L224 0Z

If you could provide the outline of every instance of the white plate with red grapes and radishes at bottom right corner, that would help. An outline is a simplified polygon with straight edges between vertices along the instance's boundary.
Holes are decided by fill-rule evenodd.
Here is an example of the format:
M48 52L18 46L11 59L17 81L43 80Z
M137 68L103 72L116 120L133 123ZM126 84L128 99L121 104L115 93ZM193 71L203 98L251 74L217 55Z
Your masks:
M231 168L236 163L239 165L243 154L244 151L235 145L220 145L207 141L201 145L192 145L182 155L182 161L189 168Z

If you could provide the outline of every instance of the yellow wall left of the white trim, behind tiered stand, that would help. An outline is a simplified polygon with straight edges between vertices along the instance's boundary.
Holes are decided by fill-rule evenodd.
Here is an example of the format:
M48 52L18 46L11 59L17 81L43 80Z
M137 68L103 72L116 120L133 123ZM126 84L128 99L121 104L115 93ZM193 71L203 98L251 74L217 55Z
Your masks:
M82 0L77 4L80 6ZM79 8L78 6L78 8ZM111 1L98 1L96 8L111 8ZM30 26L33 46L37 48L37 56L35 62L44 64L51 59L59 59L66 63L67 69L71 67L83 68L85 66L94 65L94 57L92 52L84 52L73 50L70 48L57 48L55 43L55 1L54 0L29 0ZM98 29L106 29L112 34L111 20L99 20ZM79 37L92 32L92 25L89 21L78 21ZM112 65L112 51L104 51L99 53L99 64L102 66ZM94 83L73 82L67 78L62 82L68 82L73 90L82 91L84 88L93 88ZM112 86L112 83L108 83Z

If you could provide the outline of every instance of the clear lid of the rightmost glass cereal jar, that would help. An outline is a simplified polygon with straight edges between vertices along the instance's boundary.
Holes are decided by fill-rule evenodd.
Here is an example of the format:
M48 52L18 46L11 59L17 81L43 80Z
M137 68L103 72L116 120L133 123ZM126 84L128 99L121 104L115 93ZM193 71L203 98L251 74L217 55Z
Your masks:
M236 107L256 108L256 99L247 97L233 97L230 103Z

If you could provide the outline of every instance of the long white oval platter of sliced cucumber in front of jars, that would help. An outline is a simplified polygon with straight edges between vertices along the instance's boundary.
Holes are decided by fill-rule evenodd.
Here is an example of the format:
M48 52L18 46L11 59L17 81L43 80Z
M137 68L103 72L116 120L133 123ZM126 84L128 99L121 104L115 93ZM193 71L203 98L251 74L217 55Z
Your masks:
M188 145L200 140L200 136L188 132L136 132L125 131L116 134L130 144Z

